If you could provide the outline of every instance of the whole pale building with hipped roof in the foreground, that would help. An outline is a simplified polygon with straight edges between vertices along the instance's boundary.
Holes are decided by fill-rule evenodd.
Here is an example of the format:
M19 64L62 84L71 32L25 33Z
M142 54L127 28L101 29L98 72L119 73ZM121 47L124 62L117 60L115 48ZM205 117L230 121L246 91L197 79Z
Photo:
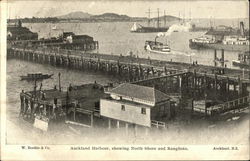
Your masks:
M100 115L120 124L151 127L160 124L159 119L173 117L174 103L171 98L152 87L121 84L107 92L108 99L101 99ZM163 122L161 125L165 126Z

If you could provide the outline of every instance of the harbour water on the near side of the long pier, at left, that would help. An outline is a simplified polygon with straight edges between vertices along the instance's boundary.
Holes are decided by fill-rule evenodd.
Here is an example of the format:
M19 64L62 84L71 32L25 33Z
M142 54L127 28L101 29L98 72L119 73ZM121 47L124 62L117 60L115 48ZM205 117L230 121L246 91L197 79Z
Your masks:
M40 140L51 137L63 137L67 135L67 131L53 134L44 134L41 131L36 130L32 125L24 121L19 117L20 112L20 92L31 91L34 89L34 82L20 81L21 75L26 75L27 73L50 73L54 74L51 79L46 79L42 81L42 89L51 89L55 85L58 87L58 73L61 73L61 84L62 89L71 85L81 85L86 83L97 83L105 85L108 82L116 82L117 80L111 76L98 74L98 73L88 73L82 71L67 70L63 68L56 68L52 66L45 66L41 64L31 63L27 61L20 60L8 60L7 61L7 142L9 144L13 143L28 143L29 141L38 141L43 143L43 140ZM37 82L37 89L40 87L41 82ZM62 129L63 130L63 129ZM32 135L30 135L32 134ZM46 135L46 137L44 137ZM22 137L20 139L19 137ZM70 138L70 137L69 137Z

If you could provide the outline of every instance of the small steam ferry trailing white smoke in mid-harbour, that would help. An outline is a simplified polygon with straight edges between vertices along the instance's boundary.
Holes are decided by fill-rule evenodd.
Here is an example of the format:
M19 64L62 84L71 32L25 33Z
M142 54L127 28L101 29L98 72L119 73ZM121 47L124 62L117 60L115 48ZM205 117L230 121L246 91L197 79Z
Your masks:
M157 41L146 41L144 47L145 50L153 53L169 54L171 51L167 44L164 45L163 43Z

